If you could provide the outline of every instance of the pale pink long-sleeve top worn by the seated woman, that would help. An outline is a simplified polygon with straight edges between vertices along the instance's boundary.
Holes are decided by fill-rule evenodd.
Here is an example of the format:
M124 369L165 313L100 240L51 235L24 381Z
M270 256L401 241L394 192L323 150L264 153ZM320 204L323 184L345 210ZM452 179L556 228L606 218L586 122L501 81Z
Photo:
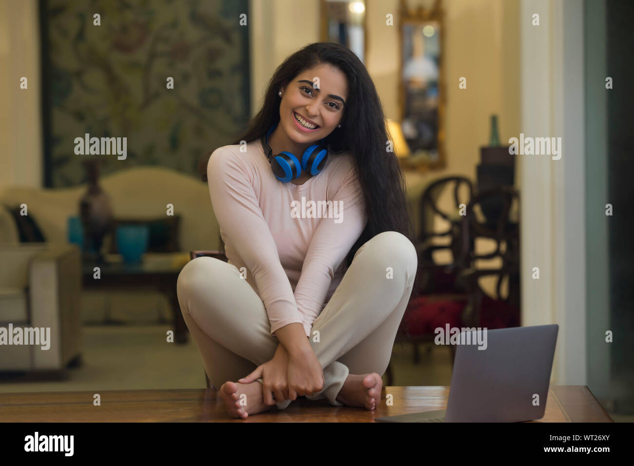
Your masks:
M319 174L297 186L275 178L259 139L245 147L219 147L207 162L228 263L245 268L271 335L299 322L310 336L368 221L353 159L347 152L330 154ZM323 208L318 201L332 203Z

